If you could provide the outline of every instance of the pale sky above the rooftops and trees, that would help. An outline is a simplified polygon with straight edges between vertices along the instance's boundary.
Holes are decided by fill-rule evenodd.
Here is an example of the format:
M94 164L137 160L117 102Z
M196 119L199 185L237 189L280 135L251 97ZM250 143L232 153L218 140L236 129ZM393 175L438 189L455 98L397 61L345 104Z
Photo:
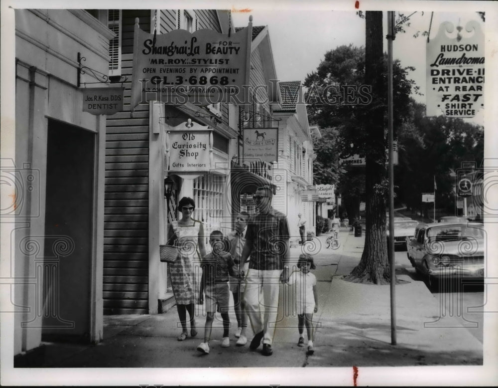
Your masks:
M465 1L463 1L465 2ZM415 8L415 7L414 7ZM460 7L464 8L464 7ZM412 8L413 9L413 8ZM416 9L416 8L415 8ZM457 7L458 9L458 7ZM479 10L480 8L475 8ZM387 34L386 13L383 12L384 37ZM405 17L412 14L413 10L403 11ZM246 26L252 15L252 25L267 25L270 44L273 51L277 78L282 81L302 81L307 74L316 70L327 51L341 45L353 44L365 46L365 19L356 14L356 10L332 9L266 9L264 5L254 6L250 12L232 11L234 24L238 27ZM405 33L396 34L393 41L393 58L399 59L403 66L413 66L414 71L409 72L409 77L415 81L423 96L413 94L412 97L425 104L425 49L427 37L421 32L429 31L430 39L438 32L439 25L450 21L455 26L465 27L470 20L475 20L484 28L481 17L476 11L461 9L457 12L416 11L410 16L409 26ZM396 13L396 18L398 13ZM420 31L418 37L413 35ZM456 35L456 32L454 32ZM464 35L465 37L466 35ZM387 52L387 40L384 38L383 49ZM480 111L476 117L469 119L479 125L484 125L484 114Z

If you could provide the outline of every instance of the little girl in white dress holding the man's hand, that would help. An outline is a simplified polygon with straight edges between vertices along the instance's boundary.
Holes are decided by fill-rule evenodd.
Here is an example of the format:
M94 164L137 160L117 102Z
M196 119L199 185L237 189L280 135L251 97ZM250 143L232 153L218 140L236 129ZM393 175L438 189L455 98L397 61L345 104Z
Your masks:
M297 262L299 271L292 272L289 277L289 285L293 285L296 295L297 329L299 340L297 346L304 346L304 326L308 335L308 355L314 353L313 349L313 313L318 311L318 293L316 289L316 277L310 270L315 269L313 256L302 253Z

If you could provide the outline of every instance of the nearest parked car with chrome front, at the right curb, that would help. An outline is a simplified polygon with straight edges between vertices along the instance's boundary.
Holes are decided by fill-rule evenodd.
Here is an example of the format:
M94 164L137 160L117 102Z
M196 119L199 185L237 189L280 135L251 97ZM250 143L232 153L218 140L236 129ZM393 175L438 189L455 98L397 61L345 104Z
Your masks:
M406 238L407 256L433 290L443 279L484 279L484 225L435 222L417 225Z

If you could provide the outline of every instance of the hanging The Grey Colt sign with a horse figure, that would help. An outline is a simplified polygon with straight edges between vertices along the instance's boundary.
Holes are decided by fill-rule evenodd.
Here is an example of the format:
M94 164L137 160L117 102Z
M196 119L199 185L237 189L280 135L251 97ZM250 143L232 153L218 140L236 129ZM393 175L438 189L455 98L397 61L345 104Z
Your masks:
M278 160L278 128L244 129L244 162L276 162Z

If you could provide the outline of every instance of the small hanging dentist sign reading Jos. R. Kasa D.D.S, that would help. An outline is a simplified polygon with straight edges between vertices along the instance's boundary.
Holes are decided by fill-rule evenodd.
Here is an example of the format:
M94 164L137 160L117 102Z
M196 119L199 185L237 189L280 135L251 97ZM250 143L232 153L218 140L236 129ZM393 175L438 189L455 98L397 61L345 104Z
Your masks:
M114 115L123 111L124 88L84 88L83 112Z

